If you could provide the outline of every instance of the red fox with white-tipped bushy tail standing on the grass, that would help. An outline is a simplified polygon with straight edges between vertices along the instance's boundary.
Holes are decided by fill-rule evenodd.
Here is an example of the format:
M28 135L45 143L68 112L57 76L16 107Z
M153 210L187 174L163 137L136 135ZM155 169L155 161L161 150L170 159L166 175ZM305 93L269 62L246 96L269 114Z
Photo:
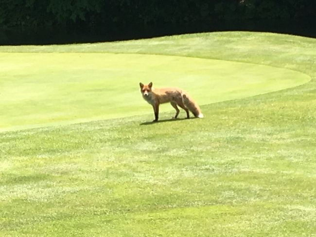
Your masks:
M172 107L176 109L175 119L180 111L177 105L186 111L187 118L190 118L189 110L196 118L203 118L200 107L193 101L188 93L179 88L154 89L152 82L147 85L140 82L140 92L144 100L154 108L155 120L153 122L158 121L159 105L168 102L170 102Z

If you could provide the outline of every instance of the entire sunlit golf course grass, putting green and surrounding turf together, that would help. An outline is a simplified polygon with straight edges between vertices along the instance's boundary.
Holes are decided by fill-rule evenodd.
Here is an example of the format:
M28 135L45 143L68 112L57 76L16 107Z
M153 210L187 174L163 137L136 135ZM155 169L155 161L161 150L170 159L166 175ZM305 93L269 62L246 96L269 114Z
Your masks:
M0 47L0 64L38 65L0 81L0 235L315 236L315 46L225 32ZM185 88L205 118L148 124L140 78Z

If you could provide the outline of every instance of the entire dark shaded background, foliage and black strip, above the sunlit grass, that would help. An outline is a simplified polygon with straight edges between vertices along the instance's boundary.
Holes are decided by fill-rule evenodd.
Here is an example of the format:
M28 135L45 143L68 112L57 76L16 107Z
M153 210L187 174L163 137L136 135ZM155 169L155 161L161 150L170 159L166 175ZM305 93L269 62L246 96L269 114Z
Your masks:
M87 38L102 33L120 39L223 30L225 22L228 30L234 25L246 30L245 25L252 22L248 29L273 28L275 32L293 27L293 21L299 21L302 29L315 18L313 0L1 0L0 29L10 29L17 34L15 38L23 32L23 44L44 31L50 35L47 38L72 33ZM276 25L280 27L275 29ZM77 35L71 37L79 40Z

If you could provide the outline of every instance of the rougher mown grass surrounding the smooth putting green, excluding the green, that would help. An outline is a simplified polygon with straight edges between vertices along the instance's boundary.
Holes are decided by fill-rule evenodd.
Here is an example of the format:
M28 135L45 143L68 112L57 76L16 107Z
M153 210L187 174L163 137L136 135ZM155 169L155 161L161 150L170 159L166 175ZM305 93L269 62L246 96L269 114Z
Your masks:
M133 101L148 114L2 132L0 233L315 236L315 46L304 37L227 32L0 48L186 55L311 78L295 88L204 105L204 119L148 124L151 108L137 94Z

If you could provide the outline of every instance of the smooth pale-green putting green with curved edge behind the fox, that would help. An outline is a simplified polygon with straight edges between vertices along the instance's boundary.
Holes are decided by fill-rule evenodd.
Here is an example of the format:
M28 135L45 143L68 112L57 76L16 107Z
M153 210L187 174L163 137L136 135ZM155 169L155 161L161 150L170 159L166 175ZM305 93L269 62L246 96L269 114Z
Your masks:
M197 57L107 53L0 54L0 131L151 113L139 82L176 86L200 105L279 91L310 76ZM162 106L161 111L171 110Z

